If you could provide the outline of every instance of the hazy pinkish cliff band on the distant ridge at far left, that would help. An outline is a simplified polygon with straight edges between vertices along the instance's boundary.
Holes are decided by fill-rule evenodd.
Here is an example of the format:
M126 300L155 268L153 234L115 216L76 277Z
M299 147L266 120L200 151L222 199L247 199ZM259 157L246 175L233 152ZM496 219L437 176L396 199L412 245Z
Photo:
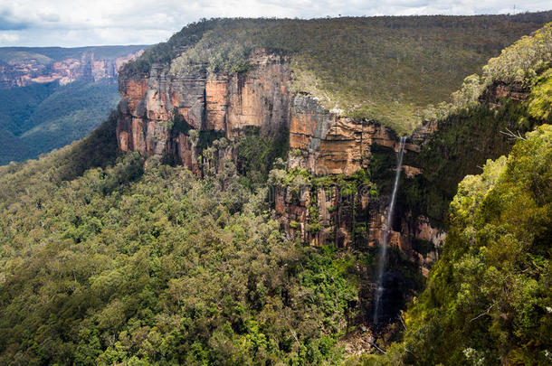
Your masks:
M142 52L129 53L114 60L103 60L95 57L93 52L84 52L80 58L51 63L34 58L0 63L0 88L24 87L52 81L66 85L76 80L116 79L121 66L135 60Z

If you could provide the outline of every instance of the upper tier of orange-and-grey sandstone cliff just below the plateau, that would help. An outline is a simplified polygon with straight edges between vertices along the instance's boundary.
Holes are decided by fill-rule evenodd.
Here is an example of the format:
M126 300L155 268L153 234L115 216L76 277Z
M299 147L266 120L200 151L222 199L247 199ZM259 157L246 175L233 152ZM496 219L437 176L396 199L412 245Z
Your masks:
M186 131L176 131L177 120L189 128L223 132L230 141L246 127L259 127L265 135L285 128L290 149L298 151L290 157L290 167L318 175L349 175L366 168L374 144L398 148L389 128L339 117L309 96L292 94L285 59L257 52L250 61L251 70L233 75L200 71L174 75L168 67L154 67L148 78L121 78L121 150L167 155L176 145L178 154L186 155L192 146L181 143ZM407 144L406 149L418 147ZM192 168L186 159L183 163Z

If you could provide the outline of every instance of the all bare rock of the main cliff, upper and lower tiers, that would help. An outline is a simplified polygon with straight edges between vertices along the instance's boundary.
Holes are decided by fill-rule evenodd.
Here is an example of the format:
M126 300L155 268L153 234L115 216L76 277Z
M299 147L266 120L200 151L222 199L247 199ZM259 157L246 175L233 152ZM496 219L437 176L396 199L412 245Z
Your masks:
M264 136L285 131L290 144L288 169L301 168L313 177L341 174L349 179L359 169L369 168L374 151L384 150L395 162L398 138L391 129L366 119L338 116L308 95L292 93L292 74L285 58L256 52L250 62L249 70L233 75L175 74L169 66L157 66L148 77L120 77L119 148L169 156L199 173L201 151L190 129L225 136L230 144L224 151L219 148L219 155L235 156L233 142L244 129L258 127ZM419 151L415 142L405 145L406 154ZM421 172L405 165L404 173ZM354 191L344 194L338 184L320 188L306 183L299 191L276 184L272 198L282 227L305 242L374 246L381 240L388 193L371 196L369 187L360 183ZM416 220L419 227L398 221L390 243L413 261L429 264L436 254L414 252L412 240L420 237L438 246L443 237L424 218ZM407 230L401 230L401 225Z

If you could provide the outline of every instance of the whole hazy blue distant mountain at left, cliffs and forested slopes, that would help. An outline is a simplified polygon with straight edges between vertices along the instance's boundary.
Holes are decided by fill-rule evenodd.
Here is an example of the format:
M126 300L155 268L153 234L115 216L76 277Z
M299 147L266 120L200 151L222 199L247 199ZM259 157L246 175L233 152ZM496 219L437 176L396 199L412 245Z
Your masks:
M0 164L86 136L119 101L119 69L148 46L1 47Z

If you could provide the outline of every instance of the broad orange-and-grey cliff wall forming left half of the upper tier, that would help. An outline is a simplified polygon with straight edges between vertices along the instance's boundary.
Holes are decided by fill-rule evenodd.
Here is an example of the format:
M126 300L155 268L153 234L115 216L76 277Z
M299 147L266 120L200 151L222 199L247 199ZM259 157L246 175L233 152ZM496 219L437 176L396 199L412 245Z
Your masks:
M290 118L289 66L263 53L251 61L252 70L234 75L175 75L168 67L157 67L147 79L121 78L120 149L146 155L176 152L184 165L195 169L191 156L197 152L187 129L222 132L233 141L245 127L260 127L263 134L285 127Z

